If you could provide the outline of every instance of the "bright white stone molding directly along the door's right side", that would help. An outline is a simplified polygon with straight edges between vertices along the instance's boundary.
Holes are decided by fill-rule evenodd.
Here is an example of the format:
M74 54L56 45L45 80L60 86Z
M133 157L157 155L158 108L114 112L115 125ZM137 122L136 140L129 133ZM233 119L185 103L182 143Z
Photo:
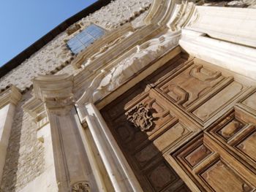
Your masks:
M256 80L256 50L184 29L180 46L190 55Z

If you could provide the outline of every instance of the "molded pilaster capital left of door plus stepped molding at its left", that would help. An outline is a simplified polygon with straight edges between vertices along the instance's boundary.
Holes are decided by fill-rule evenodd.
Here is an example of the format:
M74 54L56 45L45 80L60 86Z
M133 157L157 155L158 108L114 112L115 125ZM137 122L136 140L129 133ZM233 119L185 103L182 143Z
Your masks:
M23 105L24 111L42 128L49 123L47 110L65 115L74 106L72 76L40 75L34 79L34 97Z

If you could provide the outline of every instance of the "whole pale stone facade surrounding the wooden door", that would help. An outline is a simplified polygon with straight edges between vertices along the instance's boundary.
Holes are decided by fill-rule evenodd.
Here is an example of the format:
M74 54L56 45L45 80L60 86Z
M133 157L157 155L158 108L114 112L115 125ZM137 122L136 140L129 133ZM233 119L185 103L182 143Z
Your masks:
M1 91L13 84L23 93L9 123L0 191L143 191L99 110L176 61L181 50L256 80L255 34L250 32L255 31L255 19L249 23L246 15L256 15L255 9L116 0L69 26L0 79ZM73 55L67 40L91 23L107 34ZM207 70L203 73L208 75ZM151 118L150 126L141 127L141 118L133 123L146 133L154 117L145 109L141 113L144 119ZM184 179L184 173L178 174ZM187 185L188 180L184 180ZM197 191L191 183L189 188Z

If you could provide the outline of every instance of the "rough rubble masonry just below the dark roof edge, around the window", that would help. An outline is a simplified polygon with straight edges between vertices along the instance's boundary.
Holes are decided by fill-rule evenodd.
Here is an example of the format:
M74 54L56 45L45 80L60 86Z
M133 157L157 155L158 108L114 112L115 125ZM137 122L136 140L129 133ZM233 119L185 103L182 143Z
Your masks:
M151 4L152 0L117 0L112 1L106 7L102 7L97 12L78 21L82 28L89 26L90 23L96 23L107 30L120 26L121 23L132 23L136 26L141 25L139 20L135 20ZM145 14L143 14L145 16ZM72 60L71 51L67 48L65 39L69 39L66 32L59 34L53 41L42 47L37 53L31 55L31 58L24 61L20 66L13 69L0 79L0 90L13 84L22 91L31 86L31 79L37 74L55 74L64 66L70 64ZM70 70L69 70L70 72Z

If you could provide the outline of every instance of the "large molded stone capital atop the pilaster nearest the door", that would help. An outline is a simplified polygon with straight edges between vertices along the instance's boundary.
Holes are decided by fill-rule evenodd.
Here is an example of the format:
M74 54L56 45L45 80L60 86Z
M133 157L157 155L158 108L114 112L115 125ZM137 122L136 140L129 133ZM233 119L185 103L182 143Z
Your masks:
M39 75L33 85L35 97L45 103L49 112L65 115L74 106L72 75Z

